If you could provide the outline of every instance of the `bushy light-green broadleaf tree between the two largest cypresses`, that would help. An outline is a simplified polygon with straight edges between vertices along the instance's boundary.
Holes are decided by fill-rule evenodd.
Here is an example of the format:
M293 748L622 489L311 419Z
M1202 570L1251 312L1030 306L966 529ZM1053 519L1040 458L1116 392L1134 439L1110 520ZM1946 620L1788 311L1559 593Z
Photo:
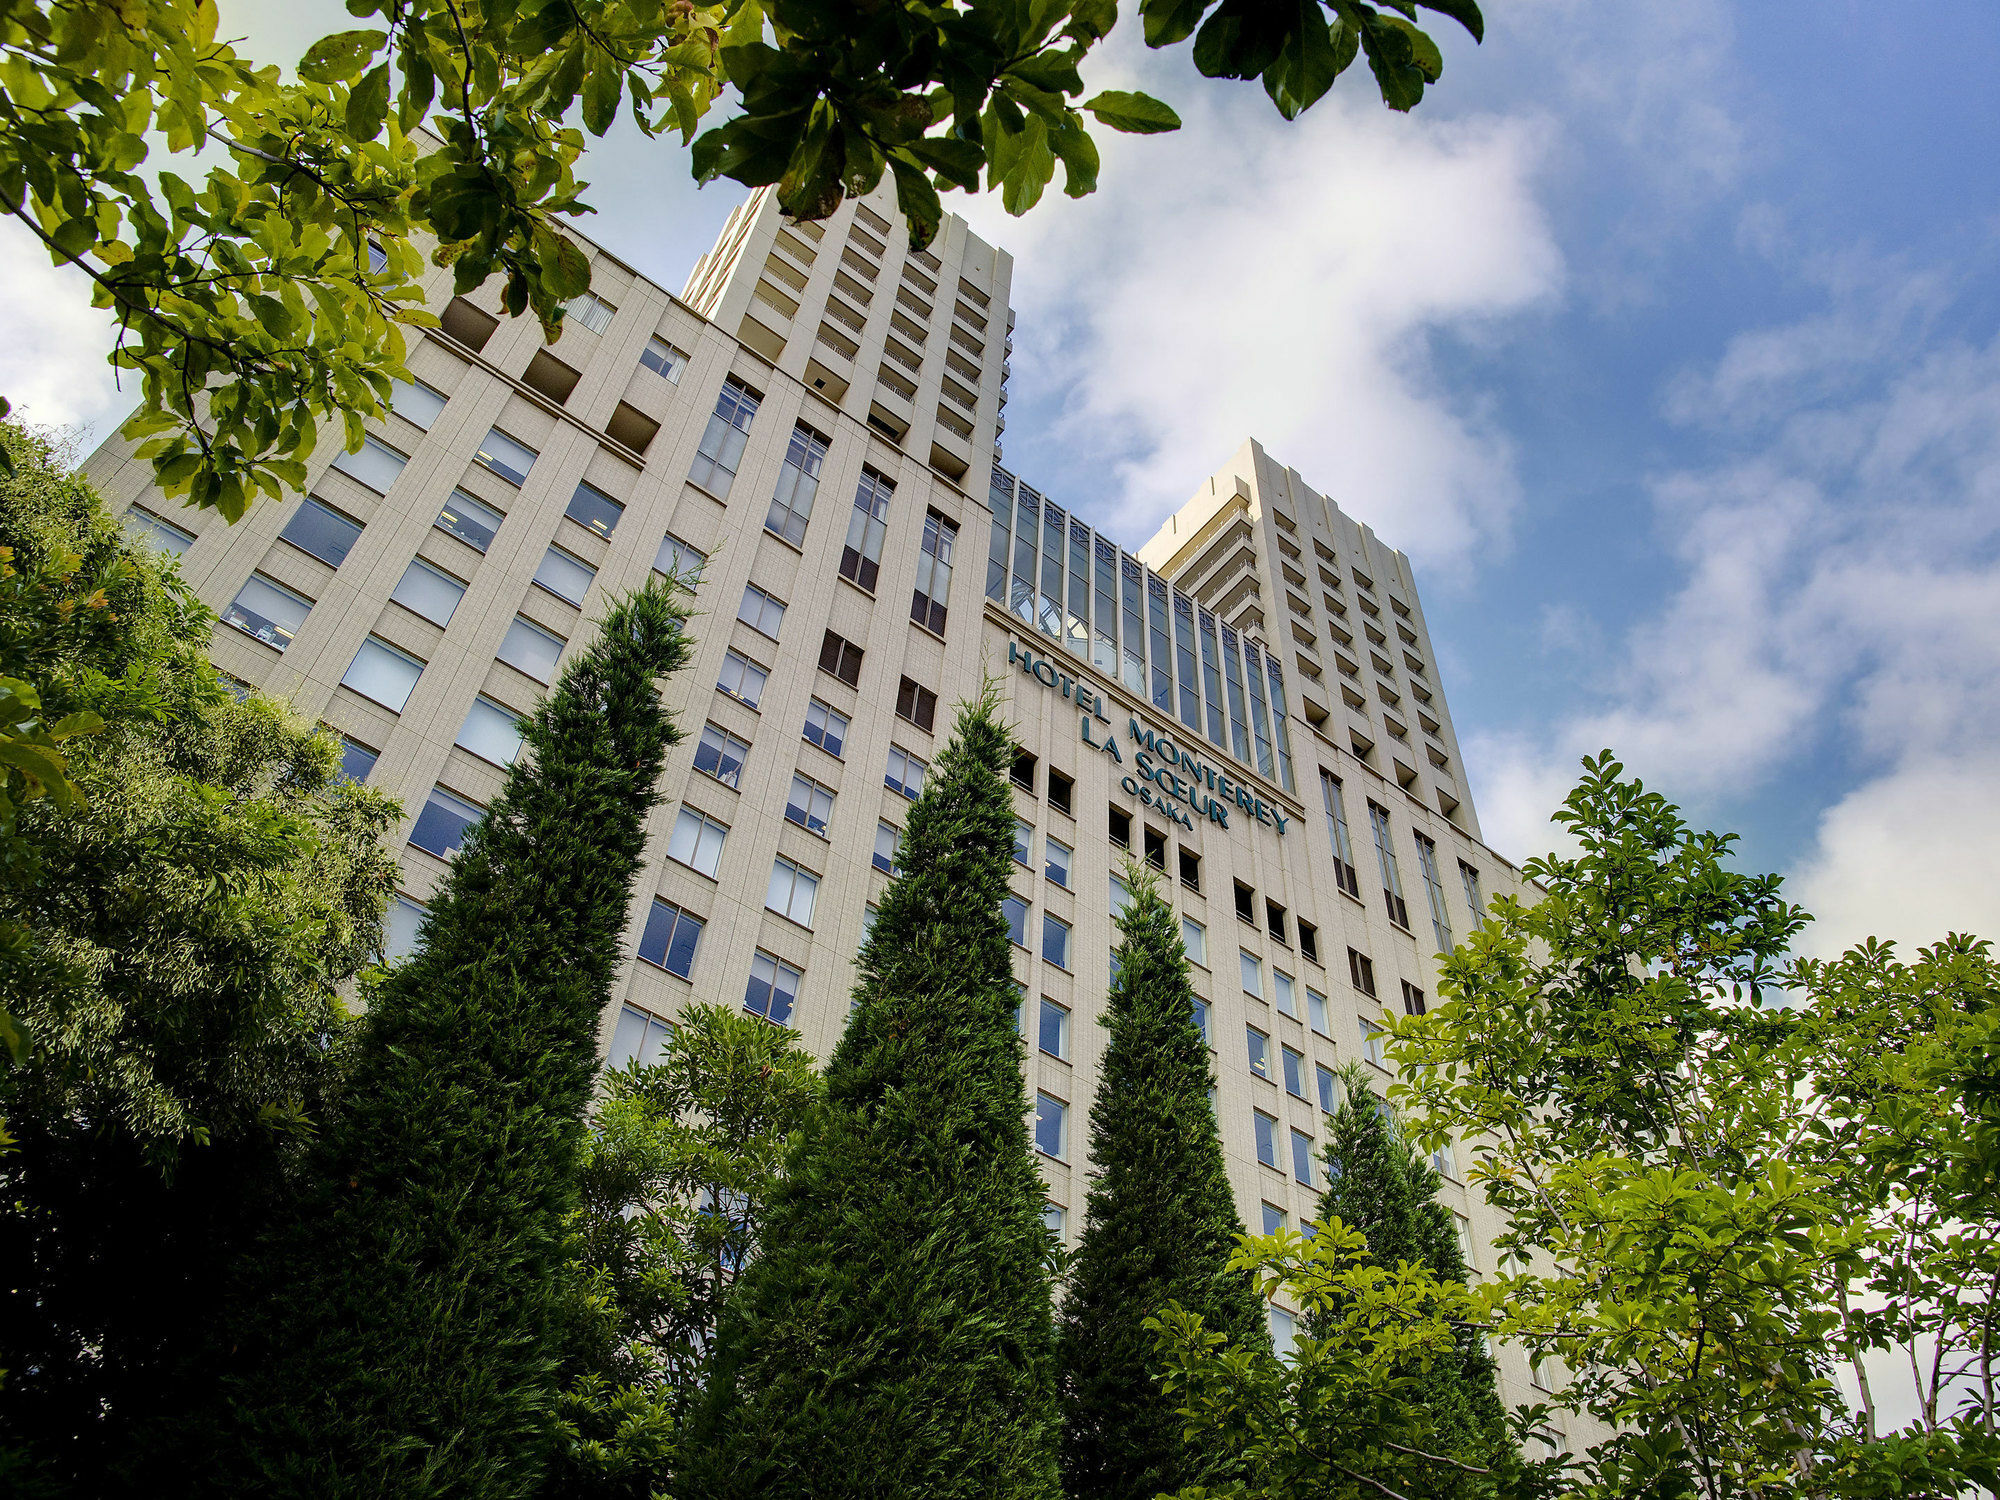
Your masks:
M656 1064L606 1076L572 1220L562 1424L544 1492L664 1492L716 1324L822 1098L798 1032L688 1006Z

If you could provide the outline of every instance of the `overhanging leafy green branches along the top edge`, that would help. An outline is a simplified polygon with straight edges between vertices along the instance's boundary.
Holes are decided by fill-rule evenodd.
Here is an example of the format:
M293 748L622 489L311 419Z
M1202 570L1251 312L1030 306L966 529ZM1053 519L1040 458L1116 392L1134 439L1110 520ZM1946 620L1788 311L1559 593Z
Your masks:
M1140 16L1150 46L1194 36L1204 74L1262 78L1290 118L1358 54L1382 100L1412 108L1442 70L1418 6L1482 36L1474 0L1142 0ZM126 436L146 440L156 482L230 520L304 484L322 426L342 422L360 448L362 420L408 378L404 330L434 326L416 306L412 236L434 242L460 294L502 276L506 310L532 308L560 336L590 284L560 224L588 212L586 132L620 110L648 136L694 142L700 180L776 184L800 218L894 172L918 246L942 216L938 188L976 190L982 174L1014 214L1058 160L1066 192L1088 194L1086 112L1114 130L1178 126L1144 94L1076 104L1116 0L348 10L374 24L322 38L282 82L216 38L216 0L0 0L0 204L116 314L112 362L142 386ZM722 98L736 112L696 138ZM142 172L162 138L224 164L200 186Z

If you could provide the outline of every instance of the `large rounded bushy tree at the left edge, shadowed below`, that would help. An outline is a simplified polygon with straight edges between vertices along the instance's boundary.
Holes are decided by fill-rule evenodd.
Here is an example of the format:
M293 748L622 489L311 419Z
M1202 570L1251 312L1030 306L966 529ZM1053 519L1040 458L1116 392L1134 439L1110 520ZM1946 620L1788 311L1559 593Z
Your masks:
M326 1118L396 804L224 688L214 616L46 440L0 450L0 1488L154 1492L226 1270Z

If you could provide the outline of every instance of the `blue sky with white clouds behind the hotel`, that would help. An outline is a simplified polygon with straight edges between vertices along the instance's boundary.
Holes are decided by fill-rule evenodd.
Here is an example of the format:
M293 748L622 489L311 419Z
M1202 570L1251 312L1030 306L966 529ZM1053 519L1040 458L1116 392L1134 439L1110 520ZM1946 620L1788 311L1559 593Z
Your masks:
M1026 218L1006 464L1128 546L1246 436L1416 568L1488 844L1612 748L1804 946L2000 930L2000 6L1494 0L1412 114L1302 120L1130 24L1102 186ZM326 0L230 0L292 62ZM1984 166L1982 166L1984 164ZM678 290L742 188L626 128L594 240ZM0 392L102 436L108 324L0 224Z

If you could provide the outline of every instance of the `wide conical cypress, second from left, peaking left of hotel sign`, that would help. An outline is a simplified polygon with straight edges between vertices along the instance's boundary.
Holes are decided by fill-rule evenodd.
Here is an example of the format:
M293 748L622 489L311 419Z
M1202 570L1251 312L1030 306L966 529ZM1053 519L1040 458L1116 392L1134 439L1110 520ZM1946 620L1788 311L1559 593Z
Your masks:
M826 1106L724 1312L678 1494L1058 1494L1054 1246L1000 916L1010 758L988 684L910 810Z

